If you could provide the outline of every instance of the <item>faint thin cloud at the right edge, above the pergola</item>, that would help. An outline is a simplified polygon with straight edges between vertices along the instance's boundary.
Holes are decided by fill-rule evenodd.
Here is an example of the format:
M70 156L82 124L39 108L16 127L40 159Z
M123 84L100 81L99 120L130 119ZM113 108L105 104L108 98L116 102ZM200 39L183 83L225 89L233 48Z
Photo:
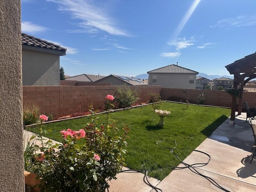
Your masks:
M217 24L210 26L210 28L226 28L226 27L241 27L252 26L256 24L256 15L254 16L238 16L234 18L226 18L219 20Z

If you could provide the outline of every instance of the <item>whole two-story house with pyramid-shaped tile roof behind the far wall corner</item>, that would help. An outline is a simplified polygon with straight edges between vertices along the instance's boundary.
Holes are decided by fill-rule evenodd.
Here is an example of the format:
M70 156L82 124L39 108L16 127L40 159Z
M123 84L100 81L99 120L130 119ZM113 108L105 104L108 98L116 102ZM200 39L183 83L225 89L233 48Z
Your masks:
M149 85L161 85L163 88L196 88L196 75L198 72L178 65L168 65L147 73Z

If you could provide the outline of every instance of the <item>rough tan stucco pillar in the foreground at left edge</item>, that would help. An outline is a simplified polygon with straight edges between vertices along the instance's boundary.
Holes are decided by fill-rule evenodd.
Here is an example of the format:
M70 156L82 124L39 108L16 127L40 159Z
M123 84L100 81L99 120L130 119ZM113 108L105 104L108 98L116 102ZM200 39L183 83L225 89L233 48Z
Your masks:
M20 0L0 1L0 191L24 191Z

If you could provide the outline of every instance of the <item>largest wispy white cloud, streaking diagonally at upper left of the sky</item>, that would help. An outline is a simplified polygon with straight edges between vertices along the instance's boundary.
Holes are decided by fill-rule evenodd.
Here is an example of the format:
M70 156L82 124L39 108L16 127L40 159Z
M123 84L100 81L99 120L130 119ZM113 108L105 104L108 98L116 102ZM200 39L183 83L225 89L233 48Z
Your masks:
M72 18L79 19L79 26L83 30L77 32L95 33L98 30L106 31L112 35L130 36L128 32L116 26L116 21L111 18L107 10L95 6L88 0L46 0L59 5L58 10L66 11ZM72 32L76 32L73 30Z

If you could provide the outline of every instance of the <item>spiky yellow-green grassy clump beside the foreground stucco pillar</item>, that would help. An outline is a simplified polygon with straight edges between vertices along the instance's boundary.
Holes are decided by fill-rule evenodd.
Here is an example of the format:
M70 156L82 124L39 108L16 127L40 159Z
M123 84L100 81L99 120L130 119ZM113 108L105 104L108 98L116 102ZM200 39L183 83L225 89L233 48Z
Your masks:
M38 121L39 107L36 104L26 105L23 108L23 125L34 124Z

